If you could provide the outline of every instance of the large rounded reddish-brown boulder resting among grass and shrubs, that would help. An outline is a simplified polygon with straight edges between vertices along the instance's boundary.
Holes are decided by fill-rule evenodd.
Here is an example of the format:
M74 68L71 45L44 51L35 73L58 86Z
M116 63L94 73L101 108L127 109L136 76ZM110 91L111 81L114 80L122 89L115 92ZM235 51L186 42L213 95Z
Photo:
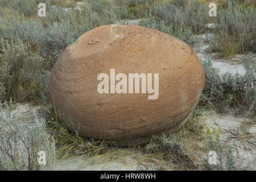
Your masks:
M110 69L127 80L129 73L159 73L158 99L141 92L98 93L97 77L110 76ZM49 96L70 130L127 146L179 130L203 87L203 66L187 44L150 28L110 24L86 32L61 53Z

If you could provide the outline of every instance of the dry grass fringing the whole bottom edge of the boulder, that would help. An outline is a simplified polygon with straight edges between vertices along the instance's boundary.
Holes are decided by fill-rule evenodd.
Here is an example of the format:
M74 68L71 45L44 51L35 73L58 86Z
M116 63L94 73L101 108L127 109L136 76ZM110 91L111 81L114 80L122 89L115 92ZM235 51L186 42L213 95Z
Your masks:
M195 156L188 148L192 147L192 141L200 138L202 125L198 109L193 111L188 122L176 134L152 136L147 143L138 143L132 147L119 148L113 143L96 141L81 137L72 133L61 123L55 111L50 112L48 120L49 133L52 134L56 144L56 156L58 159L71 159L82 157L83 162L78 169L85 165L110 164L112 162L127 163L127 156L134 156L138 168L149 168L152 164L155 169L173 168L178 170L199 169L195 163ZM151 167L152 169L152 167Z

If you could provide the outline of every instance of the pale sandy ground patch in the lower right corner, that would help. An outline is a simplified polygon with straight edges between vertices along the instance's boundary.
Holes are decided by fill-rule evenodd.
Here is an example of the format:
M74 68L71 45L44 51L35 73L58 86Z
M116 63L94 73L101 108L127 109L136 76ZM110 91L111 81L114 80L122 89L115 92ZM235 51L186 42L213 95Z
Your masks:
M224 156L228 146L232 146L235 167L240 170L256 169L256 121L249 118L234 117L234 113L217 114L213 110L202 111L209 126L221 127L220 140Z

